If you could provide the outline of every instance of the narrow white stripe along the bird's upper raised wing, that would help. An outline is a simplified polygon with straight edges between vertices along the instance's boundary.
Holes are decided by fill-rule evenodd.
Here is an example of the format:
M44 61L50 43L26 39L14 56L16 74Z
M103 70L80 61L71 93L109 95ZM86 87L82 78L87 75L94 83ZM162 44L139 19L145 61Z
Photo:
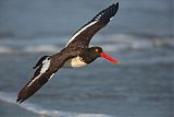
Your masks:
M94 25L94 24L96 24L98 21L95 21L95 22L91 22L91 23L89 23L88 25L86 25L85 27L83 27L82 30L79 30L74 36L72 36L72 38L67 42L67 44L66 44L66 46L71 43L71 42L73 42L73 39L75 39L75 37L76 36L78 36L82 32L84 32L86 28L88 28L89 26L91 26L91 25ZM65 47L66 47L65 46Z

